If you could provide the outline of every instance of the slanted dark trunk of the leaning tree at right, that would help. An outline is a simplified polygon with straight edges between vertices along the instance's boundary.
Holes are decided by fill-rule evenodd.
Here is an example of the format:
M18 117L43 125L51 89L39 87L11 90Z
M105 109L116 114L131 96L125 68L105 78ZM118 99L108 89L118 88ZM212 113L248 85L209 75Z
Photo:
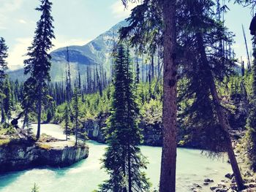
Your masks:
M222 129L225 131L225 136L226 136L226 150L227 150L227 155L228 158L230 159L230 164L232 166L233 169L233 173L235 174L236 177L236 184L238 185L238 189L239 191L244 189L244 182L243 179L241 177L241 173L238 167L238 163L236 161L236 155L233 151L233 147L232 147L232 142L230 139L230 134L228 132L228 130L230 130L230 125L228 123L228 120L225 116L225 112L222 108L222 105L220 103L220 99L217 93L217 88L214 82L214 77L211 73L211 69L210 66L208 64L208 60L207 60L207 56L206 56L206 51L205 51L205 47L203 45L203 38L200 34L197 34L197 43L198 43L198 48L200 50L200 55L201 55L201 59L203 61L203 71L206 72L206 77L208 77L208 83L209 83L209 88L211 91L211 96L213 98L214 101L214 107L216 109L217 112L217 118L219 120L219 125L222 127Z

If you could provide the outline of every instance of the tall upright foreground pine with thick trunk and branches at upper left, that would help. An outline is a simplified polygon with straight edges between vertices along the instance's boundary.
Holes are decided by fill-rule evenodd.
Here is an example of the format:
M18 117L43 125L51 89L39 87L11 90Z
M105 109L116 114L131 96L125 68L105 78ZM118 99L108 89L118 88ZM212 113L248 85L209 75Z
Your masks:
M124 5L127 5L128 1L122 0ZM148 53L156 50L157 45L163 46L163 148L160 192L176 191L176 11L176 1L142 1L128 18L130 26L121 28L121 39L132 36L132 45L146 45L143 47L150 47Z

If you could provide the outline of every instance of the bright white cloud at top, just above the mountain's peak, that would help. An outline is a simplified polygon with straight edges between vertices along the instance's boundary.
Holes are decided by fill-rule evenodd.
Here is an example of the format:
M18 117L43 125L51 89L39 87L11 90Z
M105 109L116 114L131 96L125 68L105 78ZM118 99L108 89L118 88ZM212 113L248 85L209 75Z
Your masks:
M132 9L136 7L138 3L129 3L127 9L124 8L124 4L120 0L116 1L111 5L112 13L115 15L115 18L128 18Z

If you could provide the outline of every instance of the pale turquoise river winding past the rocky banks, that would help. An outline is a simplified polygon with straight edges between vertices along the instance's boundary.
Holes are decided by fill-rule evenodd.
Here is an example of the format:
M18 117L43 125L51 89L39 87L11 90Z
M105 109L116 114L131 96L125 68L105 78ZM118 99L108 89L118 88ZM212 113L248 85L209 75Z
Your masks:
M35 127L35 125L34 125ZM60 126L42 125L42 133L64 139ZM67 168L53 169L42 167L21 172L0 174L0 192L29 192L34 183L40 192L91 192L97 189L102 181L108 179L104 169L101 169L100 158L106 145L88 141L89 157ZM148 158L146 174L153 188L159 183L161 147L141 146L143 155ZM224 179L231 172L227 159L211 159L202 155L200 150L178 148L177 152L177 192L187 192L193 183L203 187L202 191L210 191L209 186L203 186L203 180L213 179L216 182Z

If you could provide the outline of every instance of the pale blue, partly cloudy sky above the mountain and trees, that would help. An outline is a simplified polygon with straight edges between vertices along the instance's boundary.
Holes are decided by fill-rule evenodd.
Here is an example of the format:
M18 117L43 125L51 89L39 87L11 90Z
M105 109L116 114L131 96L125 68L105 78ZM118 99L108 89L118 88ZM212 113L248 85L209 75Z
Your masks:
M56 39L53 50L67 45L85 45L99 34L107 31L129 16L135 4L124 9L121 0L52 0ZM34 37L39 12L36 8L39 0L0 0L0 37L4 37L9 47L7 58L10 69L23 66L24 54ZM236 57L246 60L246 48L241 29L246 31L249 50L252 50L252 38L249 23L252 13L249 8L228 4L230 11L225 14L225 24L236 34L233 45ZM250 51L251 53L252 51Z

